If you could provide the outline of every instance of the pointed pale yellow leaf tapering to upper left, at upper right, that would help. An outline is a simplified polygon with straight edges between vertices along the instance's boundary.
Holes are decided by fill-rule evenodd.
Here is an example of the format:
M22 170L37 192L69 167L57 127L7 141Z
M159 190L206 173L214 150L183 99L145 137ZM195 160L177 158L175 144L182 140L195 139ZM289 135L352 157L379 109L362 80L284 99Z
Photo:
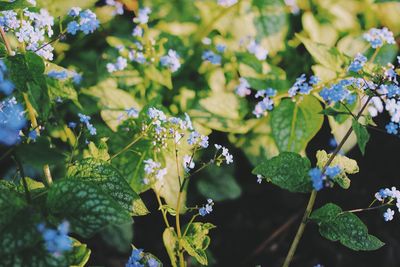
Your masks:
M296 37L304 44L317 63L336 72L342 71L344 56L336 48L313 42L300 34L296 34Z

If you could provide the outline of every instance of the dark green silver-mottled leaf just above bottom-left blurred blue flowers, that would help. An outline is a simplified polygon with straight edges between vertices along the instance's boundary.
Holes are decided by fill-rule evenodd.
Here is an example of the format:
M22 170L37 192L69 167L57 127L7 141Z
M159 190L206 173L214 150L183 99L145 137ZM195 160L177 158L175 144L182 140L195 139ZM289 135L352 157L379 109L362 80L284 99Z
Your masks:
M54 216L71 223L72 232L90 237L108 225L132 222L130 214L118 202L93 183L62 179L51 186L47 206Z

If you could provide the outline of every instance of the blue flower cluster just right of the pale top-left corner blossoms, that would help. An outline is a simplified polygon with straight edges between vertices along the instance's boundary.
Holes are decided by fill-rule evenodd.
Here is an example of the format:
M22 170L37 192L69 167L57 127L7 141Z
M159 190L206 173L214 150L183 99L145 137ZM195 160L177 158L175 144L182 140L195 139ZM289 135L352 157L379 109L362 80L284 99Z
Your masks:
M67 32L75 35L78 31L84 34L93 33L100 25L96 14L91 10L81 10L80 7L73 7L68 13L74 20L67 25Z

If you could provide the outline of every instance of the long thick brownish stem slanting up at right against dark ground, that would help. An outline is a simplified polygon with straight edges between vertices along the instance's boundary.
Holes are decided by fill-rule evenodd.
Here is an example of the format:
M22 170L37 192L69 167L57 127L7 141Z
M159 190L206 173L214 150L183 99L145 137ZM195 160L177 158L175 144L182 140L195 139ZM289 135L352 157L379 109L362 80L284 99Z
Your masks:
M369 96L367 101L365 101L364 105L361 107L360 111L357 113L355 120L358 121L361 115L363 114L364 110L367 108L369 101L372 99L372 96ZM353 127L350 127L349 130L346 132L345 136L343 137L342 141L339 143L339 145L335 148L335 150L332 152L331 156L329 157L328 161L325 163L324 167L322 168L322 174L325 173L326 169L329 167L329 165L332 163L332 161L335 159L335 157L338 155L339 151L342 149L343 145L346 143L347 139L350 137L351 133L353 132ZM310 198L307 203L306 210L304 212L303 218L301 220L301 223L299 225L299 228L296 232L296 235L293 239L293 242L290 246L289 252L286 255L285 261L283 263L283 267L288 267L293 259L294 254L296 253L297 246L300 242L301 237L303 236L304 230L306 228L306 224L308 222L308 218L313 210L315 200L317 198L317 191L313 190L311 192Z

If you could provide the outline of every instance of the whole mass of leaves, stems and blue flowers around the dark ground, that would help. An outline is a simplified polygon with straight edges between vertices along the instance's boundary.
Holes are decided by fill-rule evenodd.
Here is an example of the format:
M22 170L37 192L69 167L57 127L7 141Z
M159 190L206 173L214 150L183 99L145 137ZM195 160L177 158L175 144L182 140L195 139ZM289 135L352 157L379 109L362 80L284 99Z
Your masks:
M243 193L232 155L240 152L259 183L311 193L284 266L308 222L352 250L380 248L354 213L400 207L396 188L366 209L312 210L317 191L350 187L359 167L345 154L358 144L365 155L380 113L390 117L386 132L400 134L399 9L356 0L0 1L0 265L84 266L91 251L78 240L97 233L129 251L133 217L155 212L145 192L165 224L164 265L208 265L215 226L199 218ZM325 118L338 143L319 150L313 168L307 148ZM192 203L196 193L204 205ZM393 215L388 208L384 219ZM127 266L137 264L162 266L133 246Z

